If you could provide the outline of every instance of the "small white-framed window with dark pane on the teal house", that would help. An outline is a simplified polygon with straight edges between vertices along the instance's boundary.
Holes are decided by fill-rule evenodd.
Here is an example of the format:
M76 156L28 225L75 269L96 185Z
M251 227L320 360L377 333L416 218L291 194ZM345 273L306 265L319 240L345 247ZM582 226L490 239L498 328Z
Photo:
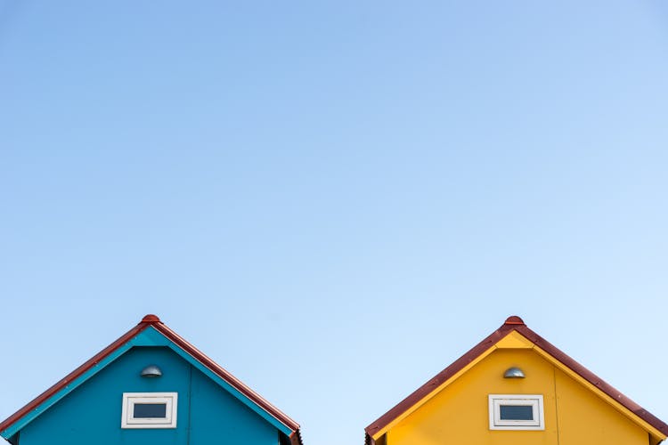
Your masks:
M123 392L121 428L175 428L176 392Z

